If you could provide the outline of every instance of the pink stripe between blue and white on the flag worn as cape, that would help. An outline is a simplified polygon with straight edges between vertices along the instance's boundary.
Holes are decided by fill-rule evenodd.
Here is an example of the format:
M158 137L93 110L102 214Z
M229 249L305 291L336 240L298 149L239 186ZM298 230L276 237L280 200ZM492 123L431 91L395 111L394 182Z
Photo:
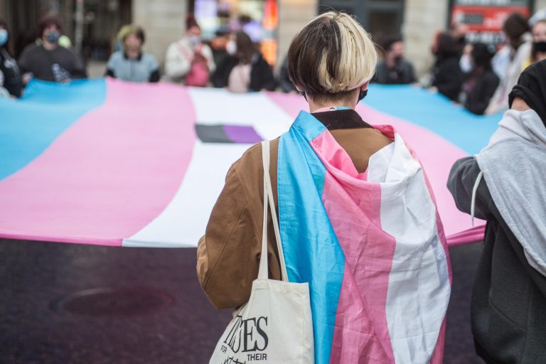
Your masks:
M330 362L392 363L385 306L396 241L381 230L381 187L361 181L349 156L328 156L345 153L329 132L311 145L327 169L323 203L346 258Z

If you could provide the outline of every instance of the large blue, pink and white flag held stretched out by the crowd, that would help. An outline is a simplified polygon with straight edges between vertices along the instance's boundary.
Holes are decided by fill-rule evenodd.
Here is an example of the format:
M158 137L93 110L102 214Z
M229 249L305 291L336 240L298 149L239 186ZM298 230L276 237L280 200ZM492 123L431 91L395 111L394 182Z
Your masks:
M297 95L87 80L31 82L0 99L0 237L195 247L225 173L253 143L287 132ZM500 119L475 117L414 87L370 87L358 112L392 124L417 152L450 244L478 241L445 187Z

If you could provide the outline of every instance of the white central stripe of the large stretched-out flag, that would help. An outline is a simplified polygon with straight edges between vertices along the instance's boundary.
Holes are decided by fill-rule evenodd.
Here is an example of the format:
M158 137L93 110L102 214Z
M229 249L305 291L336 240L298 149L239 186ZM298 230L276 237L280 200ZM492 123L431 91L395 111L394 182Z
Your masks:
M289 129L291 117L267 95L233 95L225 90L193 88L190 92L198 124L248 125L274 139ZM124 247L196 247L231 164L249 144L196 141L190 165L176 195L165 210Z

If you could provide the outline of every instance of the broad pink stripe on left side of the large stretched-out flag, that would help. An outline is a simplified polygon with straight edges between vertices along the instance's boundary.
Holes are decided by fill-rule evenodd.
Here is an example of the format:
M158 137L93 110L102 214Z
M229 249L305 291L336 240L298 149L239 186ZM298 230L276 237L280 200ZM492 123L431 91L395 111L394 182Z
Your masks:
M183 87L107 80L105 105L0 181L1 237L121 245L173 198L194 125Z

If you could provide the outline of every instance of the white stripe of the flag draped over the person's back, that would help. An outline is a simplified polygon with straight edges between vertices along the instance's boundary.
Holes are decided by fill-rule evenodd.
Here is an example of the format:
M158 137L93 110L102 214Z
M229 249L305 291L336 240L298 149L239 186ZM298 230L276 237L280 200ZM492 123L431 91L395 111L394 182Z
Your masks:
M385 308L387 325L396 363L428 363L449 302L449 272L422 168L400 135L395 135L394 144L390 155L370 159L368 175L384 182L382 230L396 240ZM401 182L404 178L407 181ZM400 193L404 199L392 198Z

